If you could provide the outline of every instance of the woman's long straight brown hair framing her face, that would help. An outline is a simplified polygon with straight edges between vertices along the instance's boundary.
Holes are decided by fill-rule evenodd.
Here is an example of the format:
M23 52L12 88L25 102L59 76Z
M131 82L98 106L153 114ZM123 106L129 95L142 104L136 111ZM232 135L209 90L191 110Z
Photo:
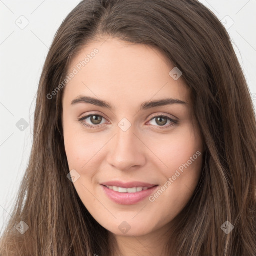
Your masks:
M191 90L205 142L204 164L192 198L176 217L175 243L166 244L169 255L255 256L253 104L227 31L197 0L83 0L65 18L40 77L29 165L0 255L112 255L108 231L67 178L64 89L47 98L64 80L71 58L103 35L157 47ZM20 221L29 227L24 234L15 228ZM221 229L225 221L234 227L228 234Z

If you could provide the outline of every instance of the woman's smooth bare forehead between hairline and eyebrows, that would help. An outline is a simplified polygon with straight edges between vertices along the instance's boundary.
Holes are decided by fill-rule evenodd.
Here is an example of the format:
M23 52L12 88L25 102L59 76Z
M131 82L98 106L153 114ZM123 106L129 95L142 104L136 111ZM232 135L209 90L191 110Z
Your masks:
M70 101L80 94L90 94L114 100L118 96L126 106L133 99L142 102L166 96L188 102L188 88L182 76L173 79L173 68L156 48L116 38L95 41L70 62L67 74L75 75L65 86L64 98Z

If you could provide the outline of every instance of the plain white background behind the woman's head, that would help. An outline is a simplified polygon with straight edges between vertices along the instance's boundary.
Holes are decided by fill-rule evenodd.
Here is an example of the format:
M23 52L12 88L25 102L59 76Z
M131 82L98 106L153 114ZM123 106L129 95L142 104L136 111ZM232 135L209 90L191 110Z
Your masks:
M228 27L234 22L227 30L256 106L256 0L200 1ZM63 19L79 2L0 0L1 233L28 164L35 95L48 48ZM20 29L18 22L29 24ZM29 124L24 131L16 127L21 118Z

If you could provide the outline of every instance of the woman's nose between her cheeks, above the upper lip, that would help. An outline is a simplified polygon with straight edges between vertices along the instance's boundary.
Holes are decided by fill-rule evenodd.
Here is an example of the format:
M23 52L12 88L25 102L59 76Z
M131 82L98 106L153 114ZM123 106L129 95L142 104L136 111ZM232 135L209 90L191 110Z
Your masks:
M136 132L137 133L137 132ZM141 167L146 162L144 150L146 146L141 141L133 126L123 131L117 126L116 134L109 143L107 162L114 168L126 171L132 167Z

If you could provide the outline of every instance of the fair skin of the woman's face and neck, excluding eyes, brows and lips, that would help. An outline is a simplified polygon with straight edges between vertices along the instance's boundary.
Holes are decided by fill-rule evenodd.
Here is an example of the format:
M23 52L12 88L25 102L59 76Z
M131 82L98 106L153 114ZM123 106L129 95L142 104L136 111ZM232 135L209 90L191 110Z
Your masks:
M161 187L197 151L202 152L189 90L182 76L174 80L169 75L174 66L160 51L116 38L103 38L86 46L72 59L68 73L94 48L98 54L66 84L62 98L68 165L70 171L75 169L80 175L73 185L91 215L115 238L123 255L159 255L164 253L173 219L199 181L202 154L153 202L146 198L132 205L117 204L104 194L100 183L142 181ZM114 109L84 102L71 105L79 95L105 100ZM142 102L167 97L185 104L139 110ZM82 121L98 125L94 129L78 121L89 114L103 116L99 124L90 117ZM161 124L155 118L159 115L178 123L169 126L172 122L165 118ZM118 126L123 118L131 124L126 131ZM160 129L162 126L169 127ZM130 226L125 234L118 228L123 221Z

